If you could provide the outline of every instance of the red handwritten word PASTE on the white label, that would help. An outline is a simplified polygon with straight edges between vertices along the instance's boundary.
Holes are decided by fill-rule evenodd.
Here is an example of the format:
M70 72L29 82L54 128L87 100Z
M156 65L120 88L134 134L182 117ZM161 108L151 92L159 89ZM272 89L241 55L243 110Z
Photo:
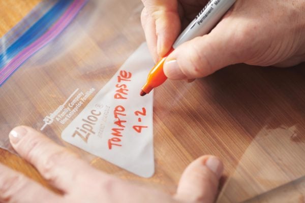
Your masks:
M117 76L118 83L115 85L115 87L117 88L115 90L115 92L117 93L114 94L115 99L127 99L129 89L126 83L131 81L131 76L132 74L130 72L119 72L119 75Z

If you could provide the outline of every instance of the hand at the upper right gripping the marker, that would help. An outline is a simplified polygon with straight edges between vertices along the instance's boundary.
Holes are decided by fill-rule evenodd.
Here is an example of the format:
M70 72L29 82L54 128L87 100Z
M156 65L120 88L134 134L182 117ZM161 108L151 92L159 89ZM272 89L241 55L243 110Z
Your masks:
M155 61L207 1L142 0L142 26ZM166 59L170 79L205 77L235 63L287 67L305 61L305 2L237 0L208 35L177 47ZM182 25L181 25L182 24Z

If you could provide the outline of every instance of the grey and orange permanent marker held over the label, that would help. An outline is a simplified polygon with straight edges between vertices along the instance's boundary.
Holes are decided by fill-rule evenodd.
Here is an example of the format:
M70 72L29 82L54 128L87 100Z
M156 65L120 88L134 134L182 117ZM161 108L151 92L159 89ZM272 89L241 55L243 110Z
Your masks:
M164 83L167 79L163 72L163 64L166 57L180 44L192 40L195 37L206 35L231 8L236 0L211 0L199 12L195 19L182 31L174 42L171 50L151 69L147 81L142 87L141 96L148 94L155 87Z

